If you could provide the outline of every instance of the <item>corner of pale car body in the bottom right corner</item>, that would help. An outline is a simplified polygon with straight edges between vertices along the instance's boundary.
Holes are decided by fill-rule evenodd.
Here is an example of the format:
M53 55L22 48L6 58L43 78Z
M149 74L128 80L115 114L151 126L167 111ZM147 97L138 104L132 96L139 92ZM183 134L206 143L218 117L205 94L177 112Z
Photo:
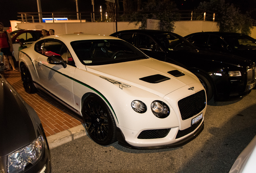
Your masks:
M229 173L253 173L256 170L256 137L240 153Z

